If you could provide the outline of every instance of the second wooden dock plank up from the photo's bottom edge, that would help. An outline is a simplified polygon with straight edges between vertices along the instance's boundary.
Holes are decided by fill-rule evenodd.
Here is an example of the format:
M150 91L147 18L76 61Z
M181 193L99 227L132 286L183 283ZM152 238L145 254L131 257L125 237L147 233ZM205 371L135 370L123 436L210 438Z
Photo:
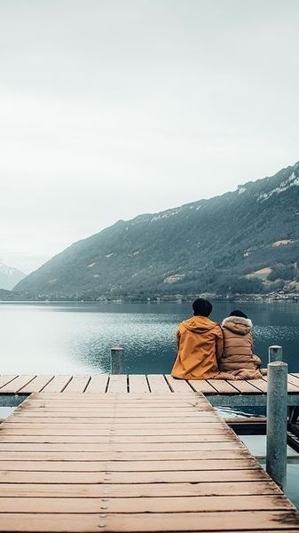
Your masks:
M292 508L286 497L188 496L113 497L0 497L0 513L188 513L221 511L279 511ZM130 521L130 516L127 521Z

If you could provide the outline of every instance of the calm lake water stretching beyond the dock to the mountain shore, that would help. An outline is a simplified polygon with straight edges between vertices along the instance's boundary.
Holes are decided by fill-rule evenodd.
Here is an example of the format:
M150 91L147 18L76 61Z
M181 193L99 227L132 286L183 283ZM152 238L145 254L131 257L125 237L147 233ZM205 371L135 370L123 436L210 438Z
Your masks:
M220 322L233 308L254 322L255 352L264 365L271 344L283 346L289 371L299 372L299 303L216 302ZM125 349L125 372L169 372L177 323L190 304L0 304L1 373L109 370L110 347Z

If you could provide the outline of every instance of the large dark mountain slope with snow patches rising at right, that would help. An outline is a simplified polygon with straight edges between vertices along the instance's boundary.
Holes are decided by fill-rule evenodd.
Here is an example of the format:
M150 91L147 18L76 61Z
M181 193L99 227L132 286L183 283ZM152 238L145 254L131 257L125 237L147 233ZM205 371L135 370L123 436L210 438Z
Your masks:
M119 220L15 290L43 298L144 298L299 289L299 162L209 200Z

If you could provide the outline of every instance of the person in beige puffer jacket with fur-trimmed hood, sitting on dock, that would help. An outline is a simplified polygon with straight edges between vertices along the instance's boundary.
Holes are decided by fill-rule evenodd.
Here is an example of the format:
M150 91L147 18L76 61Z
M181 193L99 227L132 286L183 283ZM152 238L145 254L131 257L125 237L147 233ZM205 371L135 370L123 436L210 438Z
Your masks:
M218 360L220 372L230 372L236 379L258 379L261 360L253 354L252 322L239 310L234 310L222 322L224 353Z

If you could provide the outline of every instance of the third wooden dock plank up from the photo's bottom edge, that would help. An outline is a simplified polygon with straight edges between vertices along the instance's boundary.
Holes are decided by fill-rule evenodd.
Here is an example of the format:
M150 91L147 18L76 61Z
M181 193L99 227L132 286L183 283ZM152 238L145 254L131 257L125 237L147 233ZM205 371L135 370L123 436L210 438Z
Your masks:
M250 472L250 471L249 471ZM177 497L250 496L279 494L272 481L222 481L198 483L64 484L2 483L0 497Z

